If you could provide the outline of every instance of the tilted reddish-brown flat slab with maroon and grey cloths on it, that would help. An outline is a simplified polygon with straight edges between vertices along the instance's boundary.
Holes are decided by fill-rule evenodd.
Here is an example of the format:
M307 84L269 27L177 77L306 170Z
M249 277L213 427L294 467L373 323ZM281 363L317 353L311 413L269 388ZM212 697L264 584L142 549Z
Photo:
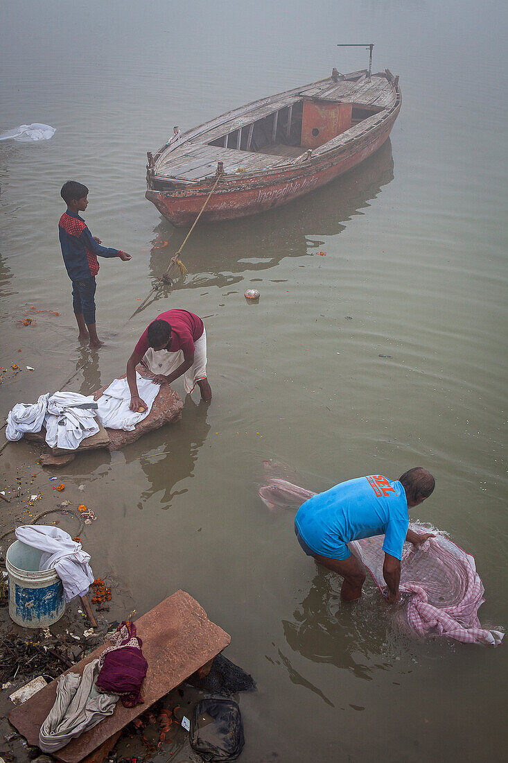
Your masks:
M231 640L222 628L208 620L203 607L185 591L176 591L144 614L136 620L136 627L137 635L143 639L143 655L148 662L142 690L143 704L124 707L118 702L112 716L53 753L55 758L64 763L82 761L156 700L206 665ZM103 644L66 672L73 671L81 675L85 665L98 657L104 648ZM34 694L21 707L12 710L10 722L30 745L37 745L40 726L53 707L55 697L56 680Z

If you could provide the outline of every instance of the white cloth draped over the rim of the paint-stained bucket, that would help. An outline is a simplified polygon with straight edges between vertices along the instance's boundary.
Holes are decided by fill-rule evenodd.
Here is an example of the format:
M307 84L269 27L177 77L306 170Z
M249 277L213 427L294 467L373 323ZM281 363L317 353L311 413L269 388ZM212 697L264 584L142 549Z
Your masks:
M40 570L54 568L63 583L63 597L72 601L85 596L94 575L88 562L90 555L81 543L72 540L69 533L47 525L25 525L16 528L16 537L33 549L42 551Z

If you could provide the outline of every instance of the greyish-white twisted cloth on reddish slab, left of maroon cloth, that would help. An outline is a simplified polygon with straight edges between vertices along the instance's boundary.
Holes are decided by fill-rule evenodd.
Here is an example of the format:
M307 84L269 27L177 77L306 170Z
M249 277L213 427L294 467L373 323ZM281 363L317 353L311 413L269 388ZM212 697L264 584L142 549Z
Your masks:
M118 694L99 694L95 689L100 671L98 662L98 659L88 662L82 676L70 672L59 677L55 703L40 726L39 747L43 752L62 749L71 739L114 713Z

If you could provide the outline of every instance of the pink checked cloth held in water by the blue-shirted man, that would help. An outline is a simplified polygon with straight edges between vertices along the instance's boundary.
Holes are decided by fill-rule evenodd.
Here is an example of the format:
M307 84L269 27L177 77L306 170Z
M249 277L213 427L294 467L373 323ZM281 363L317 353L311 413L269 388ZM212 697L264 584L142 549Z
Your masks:
M273 470L272 470L273 472ZM297 509L315 495L285 479L267 477L259 496L271 509ZM412 524L416 533L426 528ZM349 546L371 573L381 592L384 536L354 540ZM484 629L477 611L484 602L484 587L476 571L474 557L440 533L422 546L404 543L400 570L402 614L420 636L446 636L466 644L497 646L504 634Z

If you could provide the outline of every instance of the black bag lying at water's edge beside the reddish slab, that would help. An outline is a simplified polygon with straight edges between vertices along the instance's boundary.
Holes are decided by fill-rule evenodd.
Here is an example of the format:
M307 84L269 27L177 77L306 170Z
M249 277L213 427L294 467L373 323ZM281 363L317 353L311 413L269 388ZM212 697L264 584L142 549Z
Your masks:
M232 700L209 697L195 707L191 720L192 749L205 761L233 761L243 750L240 707Z

